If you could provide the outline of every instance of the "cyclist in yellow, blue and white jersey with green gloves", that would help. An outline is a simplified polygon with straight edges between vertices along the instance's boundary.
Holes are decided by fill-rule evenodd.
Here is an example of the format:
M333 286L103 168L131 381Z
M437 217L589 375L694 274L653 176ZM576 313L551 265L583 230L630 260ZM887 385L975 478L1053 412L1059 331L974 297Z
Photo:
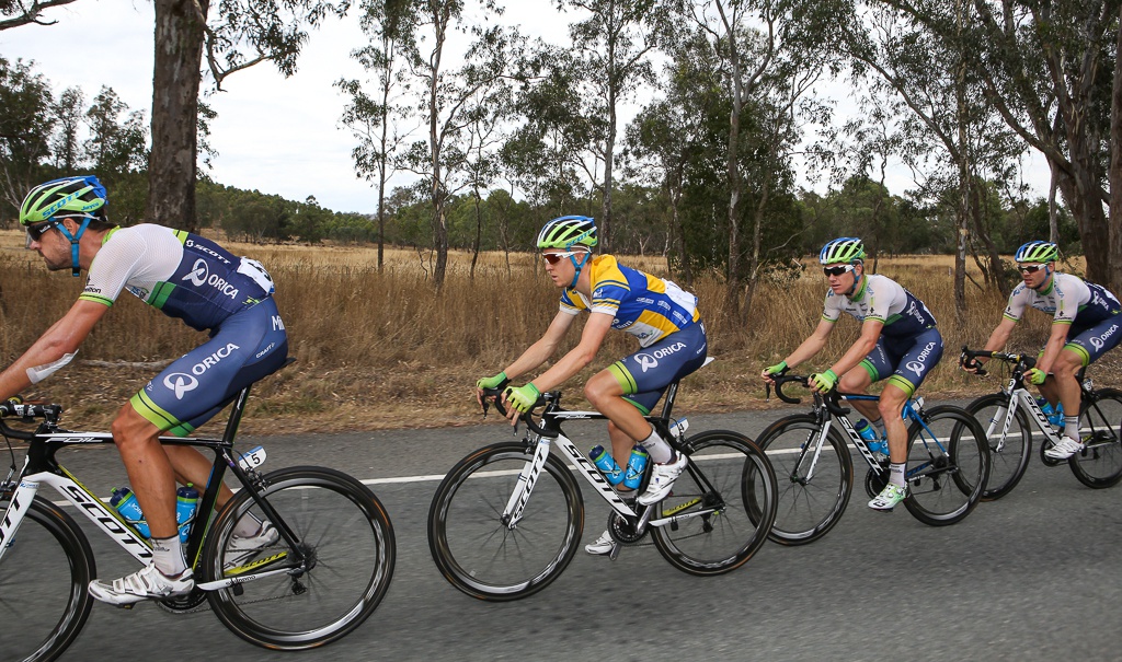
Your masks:
M537 248L545 271L561 289L561 309L542 337L503 372L476 383L481 389L506 386L515 377L539 367L553 355L581 310L590 313L580 343L549 370L522 386L508 386L504 399L508 416L516 420L528 411L543 391L555 389L588 365L600 349L608 329L617 328L638 339L641 349L592 376L585 397L608 418L611 455L626 467L637 442L651 456L654 467L638 503L662 500L687 465L646 421L666 386L705 364L708 351L705 325L697 297L673 282L629 269L611 255L592 257L597 230L587 216L561 216L542 227ZM619 485L624 491L623 485ZM614 541L607 531L587 546L590 554L607 554Z

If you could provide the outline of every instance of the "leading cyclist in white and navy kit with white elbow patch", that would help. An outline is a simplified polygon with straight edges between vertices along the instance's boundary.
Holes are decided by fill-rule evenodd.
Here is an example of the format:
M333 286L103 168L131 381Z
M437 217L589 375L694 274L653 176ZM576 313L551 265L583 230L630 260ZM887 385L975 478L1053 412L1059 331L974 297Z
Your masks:
M113 441L146 516L153 562L90 594L114 605L185 595L194 588L175 521L175 484L205 485L212 463L186 446L162 446L160 433L185 436L220 411L246 385L279 369L288 354L273 280L256 261L201 236L141 224L108 222L105 188L93 176L42 184L24 199L19 222L28 248L52 271L89 273L73 307L0 373L0 400L11 398L70 363L94 325L128 290L210 339L174 361L113 419ZM219 504L231 497L222 487ZM268 522L245 518L236 550L279 538Z

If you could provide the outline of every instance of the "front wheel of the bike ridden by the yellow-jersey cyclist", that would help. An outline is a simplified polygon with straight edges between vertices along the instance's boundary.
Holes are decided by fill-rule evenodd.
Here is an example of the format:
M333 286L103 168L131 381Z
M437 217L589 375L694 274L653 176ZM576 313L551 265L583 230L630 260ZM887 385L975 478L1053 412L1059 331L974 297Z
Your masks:
M494 444L461 459L429 509L429 549L452 586L484 600L515 600L550 585L577 553L585 504L555 456L545 459L522 519L503 520L518 476L533 458L525 442Z

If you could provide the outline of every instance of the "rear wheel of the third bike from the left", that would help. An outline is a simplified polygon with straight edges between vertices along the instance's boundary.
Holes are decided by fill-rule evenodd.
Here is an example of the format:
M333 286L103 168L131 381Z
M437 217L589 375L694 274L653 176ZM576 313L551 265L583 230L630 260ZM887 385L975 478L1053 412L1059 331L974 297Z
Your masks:
M932 526L974 510L990 475L990 447L977 419L959 407L932 407L908 430L904 507Z

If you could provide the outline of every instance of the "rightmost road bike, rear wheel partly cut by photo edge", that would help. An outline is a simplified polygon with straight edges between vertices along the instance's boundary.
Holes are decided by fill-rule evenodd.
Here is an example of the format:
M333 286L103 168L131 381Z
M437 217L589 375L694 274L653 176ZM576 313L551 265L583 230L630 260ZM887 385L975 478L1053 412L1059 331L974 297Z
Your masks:
M996 500L1009 494L1024 476L1032 455L1032 438L1040 438L1040 459L1047 466L1064 460L1052 459L1045 451L1058 444L1059 431L1048 421L1037 400L1024 388L1024 373L1036 365L1036 357L1005 352L986 352L963 347L960 361L993 358L1011 366L1009 382L996 393L983 395L966 405L986 429L993 469L983 498ZM1083 450L1067 459L1072 473L1087 487L1113 487L1122 481L1122 391L1095 389L1079 381L1079 436ZM980 375L986 374L980 370Z

